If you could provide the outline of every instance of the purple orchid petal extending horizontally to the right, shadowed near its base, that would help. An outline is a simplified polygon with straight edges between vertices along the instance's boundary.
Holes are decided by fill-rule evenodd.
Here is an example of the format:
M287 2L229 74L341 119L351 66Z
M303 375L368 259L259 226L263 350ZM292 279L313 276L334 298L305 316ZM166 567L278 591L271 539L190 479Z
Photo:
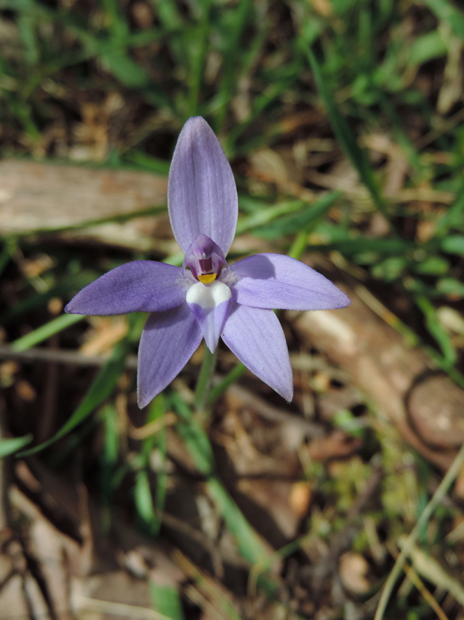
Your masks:
M222 275L239 304L255 308L328 310L345 308L349 297L303 262L282 254L256 254Z

